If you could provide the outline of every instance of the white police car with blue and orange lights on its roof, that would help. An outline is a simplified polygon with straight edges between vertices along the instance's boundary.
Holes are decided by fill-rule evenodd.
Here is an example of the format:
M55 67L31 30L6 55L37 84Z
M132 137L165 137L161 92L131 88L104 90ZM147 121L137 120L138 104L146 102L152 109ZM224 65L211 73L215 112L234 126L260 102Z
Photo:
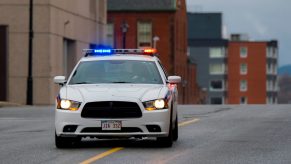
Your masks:
M82 137L178 139L176 84L155 49L86 49L56 98L55 144L70 147Z

